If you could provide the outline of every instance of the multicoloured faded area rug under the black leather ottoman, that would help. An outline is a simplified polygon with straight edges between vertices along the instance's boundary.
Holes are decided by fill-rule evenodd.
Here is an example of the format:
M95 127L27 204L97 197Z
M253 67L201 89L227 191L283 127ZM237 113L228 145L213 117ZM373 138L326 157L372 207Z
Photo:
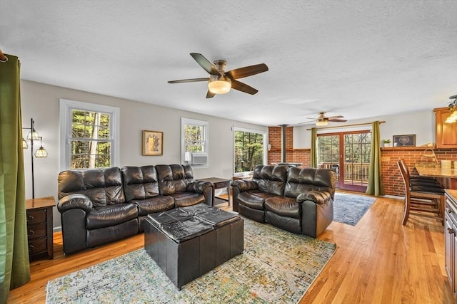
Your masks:
M181 291L139 249L51 280L46 303L297 303L336 245L244 219L244 251Z

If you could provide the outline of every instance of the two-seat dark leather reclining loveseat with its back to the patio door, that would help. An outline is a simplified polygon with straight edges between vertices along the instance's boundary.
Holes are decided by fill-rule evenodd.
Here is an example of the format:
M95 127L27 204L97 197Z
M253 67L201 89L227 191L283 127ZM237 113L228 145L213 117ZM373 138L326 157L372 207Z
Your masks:
M331 169L258 165L236 180L233 211L261 223L316 238L333 221L336 174Z

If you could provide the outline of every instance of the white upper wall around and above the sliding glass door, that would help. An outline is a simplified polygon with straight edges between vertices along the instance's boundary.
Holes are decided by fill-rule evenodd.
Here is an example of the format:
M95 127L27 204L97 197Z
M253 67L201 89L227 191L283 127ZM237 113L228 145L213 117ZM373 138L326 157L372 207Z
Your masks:
M429 142L435 143L435 115L433 109L418 112L401 113L391 116L379 116L366 118L364 120L351 120L341 125L352 125L373 121L386 121L381 124L381 140L392 140L393 135L416 135L416 146L425 145ZM338 126L338 123L331 122L328 126ZM293 148L311 148L311 131L306 130L313 125L293 127ZM318 130L319 133L347 132L351 130L371 130L371 125L358 127L339 127L332 129Z

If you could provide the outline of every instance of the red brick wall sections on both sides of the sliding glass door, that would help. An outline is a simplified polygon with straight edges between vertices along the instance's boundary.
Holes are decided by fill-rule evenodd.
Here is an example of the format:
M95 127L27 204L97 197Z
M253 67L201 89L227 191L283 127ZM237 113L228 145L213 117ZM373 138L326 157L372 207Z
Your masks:
M268 140L271 150L268 151L268 164L281 162L281 127L268 127ZM403 179L398 171L397 162L405 159L412 175L417 174L414 164L424 162L422 157L425 147L391 147L381 148L381 173L384 190L388 195L404 196ZM438 162L444 159L457 160L457 149L435 149ZM311 165L310 149L293 149L293 127L286 127L286 162L301 162L303 167ZM451 187L456 188L454 179Z

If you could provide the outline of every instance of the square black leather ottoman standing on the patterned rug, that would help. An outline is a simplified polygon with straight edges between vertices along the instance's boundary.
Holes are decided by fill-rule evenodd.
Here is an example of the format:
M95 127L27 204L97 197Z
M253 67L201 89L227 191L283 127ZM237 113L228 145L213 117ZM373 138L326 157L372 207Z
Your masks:
M144 248L170 281L181 289L243 252L243 219L198 204L146 217Z

